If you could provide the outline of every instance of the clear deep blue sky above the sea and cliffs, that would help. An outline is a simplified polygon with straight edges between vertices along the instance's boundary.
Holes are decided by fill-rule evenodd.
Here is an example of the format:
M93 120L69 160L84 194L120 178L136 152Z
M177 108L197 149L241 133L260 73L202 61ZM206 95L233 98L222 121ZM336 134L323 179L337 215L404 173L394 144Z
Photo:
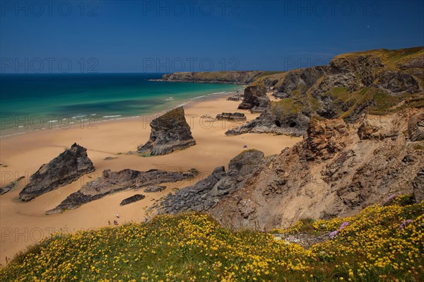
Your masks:
M1 72L287 70L424 45L424 1L5 1Z

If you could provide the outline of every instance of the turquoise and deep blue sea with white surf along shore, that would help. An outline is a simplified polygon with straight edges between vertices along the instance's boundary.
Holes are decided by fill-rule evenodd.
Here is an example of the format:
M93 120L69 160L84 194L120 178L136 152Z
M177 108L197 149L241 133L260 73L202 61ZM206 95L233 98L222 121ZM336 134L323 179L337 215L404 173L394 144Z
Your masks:
M139 117L241 90L214 83L149 81L162 74L0 74L0 136Z

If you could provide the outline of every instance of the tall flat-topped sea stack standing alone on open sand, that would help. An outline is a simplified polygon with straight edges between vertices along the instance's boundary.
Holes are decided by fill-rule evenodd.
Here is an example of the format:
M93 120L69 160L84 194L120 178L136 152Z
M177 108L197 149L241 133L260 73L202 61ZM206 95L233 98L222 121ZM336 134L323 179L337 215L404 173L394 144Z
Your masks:
M150 139L146 144L137 148L139 153L165 155L196 144L184 117L183 107L177 107L153 119L150 126Z

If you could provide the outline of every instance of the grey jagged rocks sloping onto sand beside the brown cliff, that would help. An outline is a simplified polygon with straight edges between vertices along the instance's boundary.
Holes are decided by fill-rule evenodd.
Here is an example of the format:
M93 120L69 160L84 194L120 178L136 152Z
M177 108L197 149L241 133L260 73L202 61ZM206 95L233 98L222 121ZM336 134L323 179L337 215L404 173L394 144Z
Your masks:
M175 195L168 194L160 203L159 213L181 211L208 211L225 195L245 184L245 176L259 168L264 153L257 150L243 151L228 164L228 172L218 167L211 175L196 184L180 189Z

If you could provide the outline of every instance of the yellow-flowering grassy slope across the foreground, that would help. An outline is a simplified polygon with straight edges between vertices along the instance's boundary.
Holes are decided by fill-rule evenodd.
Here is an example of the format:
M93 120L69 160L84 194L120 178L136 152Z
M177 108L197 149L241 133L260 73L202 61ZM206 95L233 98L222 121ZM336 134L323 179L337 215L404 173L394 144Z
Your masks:
M201 213L157 216L53 235L1 268L0 281L424 281L423 211L424 201L393 201L285 230L338 230L307 249L269 233L223 228Z

